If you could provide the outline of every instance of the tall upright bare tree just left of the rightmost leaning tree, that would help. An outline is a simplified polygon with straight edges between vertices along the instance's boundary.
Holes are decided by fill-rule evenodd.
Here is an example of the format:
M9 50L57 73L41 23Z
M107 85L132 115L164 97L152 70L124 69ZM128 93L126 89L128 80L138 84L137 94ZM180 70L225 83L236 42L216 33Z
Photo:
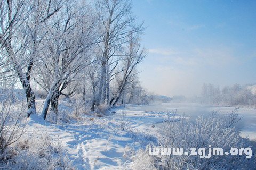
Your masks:
M136 18L131 15L131 1L124 0L97 0L95 11L99 21L101 36L98 41L100 54L98 60L101 66L101 75L96 105L104 103L109 97L110 69L112 64L119 60L117 53L122 45L129 41L133 33L142 32L142 25L136 25Z

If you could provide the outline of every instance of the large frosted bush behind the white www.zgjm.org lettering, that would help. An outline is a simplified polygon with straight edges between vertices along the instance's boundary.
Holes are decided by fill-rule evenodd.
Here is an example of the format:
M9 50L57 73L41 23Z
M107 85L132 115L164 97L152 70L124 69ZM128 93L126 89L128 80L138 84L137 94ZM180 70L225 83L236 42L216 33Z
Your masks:
M166 120L163 128L159 129L158 144L159 148L183 148L183 153L190 152L189 148L205 148L208 155L209 148L223 148L223 153L230 152L231 148L250 147L249 140L241 138L239 131L234 124L230 126L228 118L223 118L214 112L210 117L198 117L196 122L192 121L171 121ZM211 145L209 147L209 145ZM149 147L149 146L148 146ZM153 146L154 147L154 146ZM141 154L143 152L143 154ZM228 155L228 156L211 156L202 159L192 155L157 155L149 159L148 150L139 151L134 156L134 163L146 157L147 164L154 164L158 169L250 169L255 167L254 155L247 159L246 155ZM139 160L145 162L145 160ZM137 167L137 166L136 166ZM214 167L214 168L213 168ZM136 168L133 168L136 169Z

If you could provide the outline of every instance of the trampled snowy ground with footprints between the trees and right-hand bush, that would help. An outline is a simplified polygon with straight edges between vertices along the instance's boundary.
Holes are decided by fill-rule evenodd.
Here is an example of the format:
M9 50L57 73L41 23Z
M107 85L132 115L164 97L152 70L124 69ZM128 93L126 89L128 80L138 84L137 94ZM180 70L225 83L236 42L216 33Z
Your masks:
M140 106L112 111L116 113L103 117L84 116L81 121L66 125L45 123L32 116L27 134L46 133L61 141L78 169L123 169L129 164L129 158L123 156L125 147L129 145L137 150L148 141L156 141L154 126L163 122L167 114L146 113Z

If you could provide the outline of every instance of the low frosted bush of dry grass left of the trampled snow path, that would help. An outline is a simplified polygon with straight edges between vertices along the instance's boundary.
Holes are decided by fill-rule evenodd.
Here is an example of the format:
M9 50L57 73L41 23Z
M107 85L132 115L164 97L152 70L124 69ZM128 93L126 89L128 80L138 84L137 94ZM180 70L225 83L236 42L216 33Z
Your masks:
M23 135L9 152L11 169L74 169L61 142L46 134Z

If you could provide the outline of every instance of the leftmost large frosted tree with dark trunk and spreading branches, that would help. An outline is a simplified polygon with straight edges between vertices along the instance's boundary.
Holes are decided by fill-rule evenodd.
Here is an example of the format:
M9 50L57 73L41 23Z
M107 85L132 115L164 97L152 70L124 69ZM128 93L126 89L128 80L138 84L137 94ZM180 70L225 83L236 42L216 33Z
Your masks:
M26 93L28 117L36 113L30 75L37 60L38 45L44 37L46 21L60 8L61 1L1 1L1 55L9 62Z

